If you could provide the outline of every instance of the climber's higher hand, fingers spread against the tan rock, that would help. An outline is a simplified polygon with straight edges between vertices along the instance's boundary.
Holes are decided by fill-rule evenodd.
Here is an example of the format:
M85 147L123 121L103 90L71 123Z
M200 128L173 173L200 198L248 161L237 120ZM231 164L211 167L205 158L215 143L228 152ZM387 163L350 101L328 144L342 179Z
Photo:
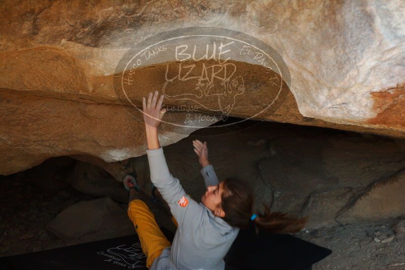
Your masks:
M166 109L161 110L161 105L163 104L164 95L161 95L157 104L157 96L159 92L155 91L155 95L152 99L152 92L149 93L148 101L146 102L145 97L142 98L143 106L143 120L146 125L157 128L160 124L161 119L166 113ZM154 117L154 118L152 118Z

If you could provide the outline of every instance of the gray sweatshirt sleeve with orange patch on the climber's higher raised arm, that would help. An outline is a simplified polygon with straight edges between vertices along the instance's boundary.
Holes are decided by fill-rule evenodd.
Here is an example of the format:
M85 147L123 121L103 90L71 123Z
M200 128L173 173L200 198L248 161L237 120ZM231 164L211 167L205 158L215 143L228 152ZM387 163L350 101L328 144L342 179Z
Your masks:
M163 148L146 149L149 161L150 180L169 204L179 229L191 230L200 226L204 208L186 194L178 178L168 168Z

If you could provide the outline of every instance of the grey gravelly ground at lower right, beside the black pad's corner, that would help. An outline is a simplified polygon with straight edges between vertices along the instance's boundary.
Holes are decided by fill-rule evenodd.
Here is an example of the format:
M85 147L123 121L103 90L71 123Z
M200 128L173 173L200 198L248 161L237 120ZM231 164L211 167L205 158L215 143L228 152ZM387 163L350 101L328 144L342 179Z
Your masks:
M396 222L398 220L324 227L301 231L296 236L332 250L331 255L313 265L314 270L405 269L405 235L396 235L388 243L375 240L387 237L389 241L389 236L395 235L392 226Z

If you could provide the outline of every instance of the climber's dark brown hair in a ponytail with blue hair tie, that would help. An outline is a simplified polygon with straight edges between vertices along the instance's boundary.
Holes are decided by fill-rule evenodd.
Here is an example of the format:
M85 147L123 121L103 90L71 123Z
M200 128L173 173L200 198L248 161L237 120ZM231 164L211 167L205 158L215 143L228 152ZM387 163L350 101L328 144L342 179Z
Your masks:
M225 212L223 219L230 226L246 229L253 214L254 196L251 187L241 179L228 177L224 180L221 208ZM299 232L306 223L308 216L303 218L288 217L283 212L270 212L264 205L264 213L256 213L253 222L266 231L277 234ZM256 227L256 232L258 232Z

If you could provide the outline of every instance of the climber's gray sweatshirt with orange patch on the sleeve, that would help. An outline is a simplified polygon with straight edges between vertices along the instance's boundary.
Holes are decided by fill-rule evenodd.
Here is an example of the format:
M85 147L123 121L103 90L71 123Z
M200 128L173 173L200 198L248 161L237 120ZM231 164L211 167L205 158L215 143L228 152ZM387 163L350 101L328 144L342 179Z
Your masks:
M203 203L190 198L178 178L169 172L163 148L147 149L150 179L168 202L178 227L171 247L153 261L151 270L224 269L223 258L237 237L239 229L217 217ZM213 166L200 170L206 186L218 185Z

